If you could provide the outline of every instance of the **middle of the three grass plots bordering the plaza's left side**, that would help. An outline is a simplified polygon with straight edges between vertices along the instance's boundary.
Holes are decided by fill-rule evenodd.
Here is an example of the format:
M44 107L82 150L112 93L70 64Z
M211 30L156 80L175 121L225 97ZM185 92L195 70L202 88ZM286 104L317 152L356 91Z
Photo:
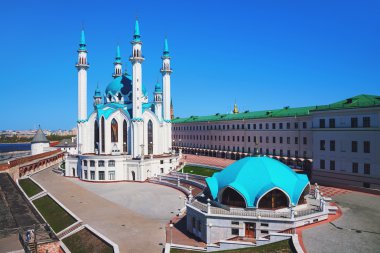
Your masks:
M69 213L47 195L34 200L33 204L56 233L76 222Z

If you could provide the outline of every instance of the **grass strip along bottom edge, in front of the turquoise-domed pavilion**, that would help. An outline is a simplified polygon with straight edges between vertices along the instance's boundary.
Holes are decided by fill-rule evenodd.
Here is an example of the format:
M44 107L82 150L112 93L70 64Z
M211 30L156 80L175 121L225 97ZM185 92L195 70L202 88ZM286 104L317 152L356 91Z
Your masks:
M171 253L191 253L199 251L189 251L181 249L170 249ZM259 247L251 247L245 249L233 249L233 250L222 250L218 252L228 252L228 253L292 253L292 245L290 240L275 242Z

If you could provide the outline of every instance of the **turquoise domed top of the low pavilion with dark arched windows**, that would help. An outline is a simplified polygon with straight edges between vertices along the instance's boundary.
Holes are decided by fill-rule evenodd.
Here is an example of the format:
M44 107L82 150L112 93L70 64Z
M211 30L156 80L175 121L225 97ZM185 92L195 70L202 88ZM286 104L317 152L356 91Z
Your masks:
M246 157L206 179L210 196L220 204L278 209L304 203L307 175L297 174L269 157Z

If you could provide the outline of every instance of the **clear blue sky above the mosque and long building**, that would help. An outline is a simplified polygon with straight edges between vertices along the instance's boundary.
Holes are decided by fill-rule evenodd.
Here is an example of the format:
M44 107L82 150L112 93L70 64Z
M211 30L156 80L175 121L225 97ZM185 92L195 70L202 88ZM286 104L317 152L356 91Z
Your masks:
M90 113L117 44L131 72L136 16L149 94L168 37L176 116L226 113L235 100L242 111L380 95L378 0L1 1L0 129L73 128L81 24Z

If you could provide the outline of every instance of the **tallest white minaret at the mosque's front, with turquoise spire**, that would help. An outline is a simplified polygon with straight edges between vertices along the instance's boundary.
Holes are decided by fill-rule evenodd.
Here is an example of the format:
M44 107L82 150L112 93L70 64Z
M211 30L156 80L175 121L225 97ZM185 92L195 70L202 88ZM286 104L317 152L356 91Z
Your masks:
M129 60L132 62L132 86L133 86L133 101L132 101L132 117L140 119L142 117L142 69L141 63L145 60L141 52L141 39L139 21L136 19L135 34L133 35L132 56Z

